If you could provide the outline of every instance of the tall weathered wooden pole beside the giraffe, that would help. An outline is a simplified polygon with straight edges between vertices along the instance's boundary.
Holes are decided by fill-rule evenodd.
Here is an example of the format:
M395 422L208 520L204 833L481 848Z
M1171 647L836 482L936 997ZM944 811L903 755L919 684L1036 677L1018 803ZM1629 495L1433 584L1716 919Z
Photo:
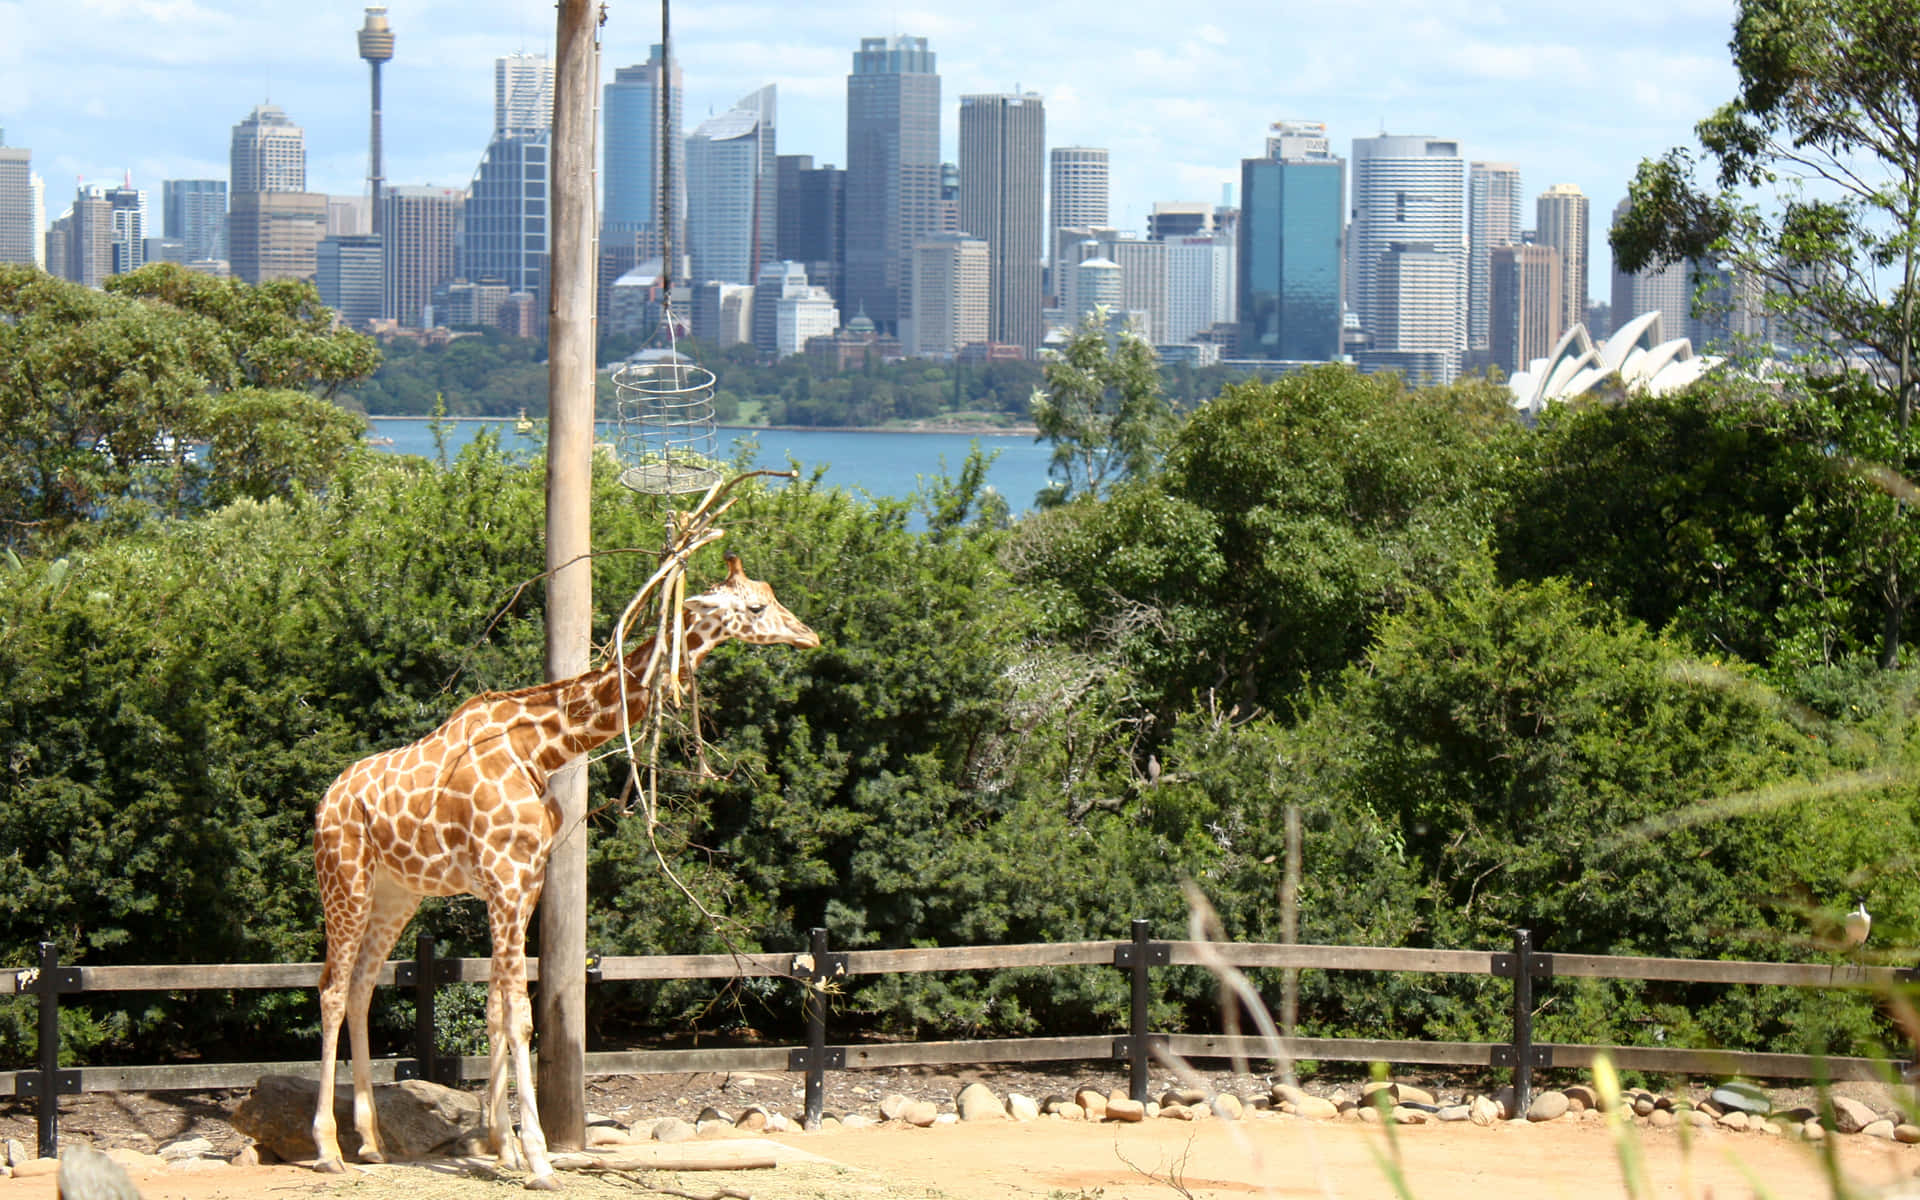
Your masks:
M547 301L547 678L589 666L593 636L593 4L561 0L553 71ZM553 774L561 835L540 900L540 1123L555 1150L586 1144L586 764Z

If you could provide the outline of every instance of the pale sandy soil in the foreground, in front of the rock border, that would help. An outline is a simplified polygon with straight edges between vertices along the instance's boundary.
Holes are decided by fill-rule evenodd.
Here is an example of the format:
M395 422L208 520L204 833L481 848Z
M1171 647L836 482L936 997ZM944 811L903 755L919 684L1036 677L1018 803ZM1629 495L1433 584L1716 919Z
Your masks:
M1707 1133L1682 1140L1640 1131L1647 1194L1728 1200L1770 1194L1834 1194L1812 1146L1763 1135ZM660 1194L755 1200L1225 1200L1235 1196L1394 1196L1386 1164L1421 1200L1503 1196L1624 1196L1620 1164L1605 1127L1594 1123L1490 1129L1400 1129L1352 1121L1146 1121L1087 1125L968 1123L935 1129L841 1129L778 1139L728 1139L772 1148L781 1164L755 1171L564 1173L563 1192L582 1200ZM703 1142L689 1142L695 1150ZM1845 1139L1847 1179L1874 1196L1920 1196L1920 1150ZM148 1200L507 1200L516 1177L465 1173L451 1164L357 1167L346 1177L284 1164L140 1171ZM1764 1185L1764 1192L1757 1187ZM52 1200L52 1175L0 1179L0 1200Z

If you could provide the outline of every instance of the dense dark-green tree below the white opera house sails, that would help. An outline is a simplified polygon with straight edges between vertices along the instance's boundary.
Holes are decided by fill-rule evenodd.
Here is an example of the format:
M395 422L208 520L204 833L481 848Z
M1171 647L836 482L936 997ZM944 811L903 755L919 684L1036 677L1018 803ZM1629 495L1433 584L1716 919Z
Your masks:
M1878 457L1874 442L1893 432L1882 399L1859 376L1778 390L1718 378L1555 407L1519 444L1501 566L1580 580L1657 630L1749 662L1866 655L1882 564L1920 549L1899 503L1834 453Z

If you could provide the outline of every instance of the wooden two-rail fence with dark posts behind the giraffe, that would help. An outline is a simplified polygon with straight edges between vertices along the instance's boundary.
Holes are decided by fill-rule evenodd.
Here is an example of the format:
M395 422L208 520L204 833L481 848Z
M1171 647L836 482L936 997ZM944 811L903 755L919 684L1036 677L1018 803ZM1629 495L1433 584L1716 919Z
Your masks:
M1152 1033L1152 970L1162 966L1225 966L1415 972L1440 975L1496 975L1513 981L1513 1031L1505 1043L1436 1043L1292 1037L1279 1046L1258 1037L1217 1033ZM816 1125L824 1108L826 1073L839 1069L989 1064L1125 1060L1129 1091L1146 1100L1146 1071L1156 1052L1187 1060L1288 1058L1327 1062L1394 1062L1453 1068L1507 1068L1515 1102L1524 1108L1536 1068L1586 1068L1599 1054L1622 1069L1676 1075L1749 1075L1759 1079L1885 1079L1905 1064L1878 1058L1814 1058L1807 1054L1755 1054L1678 1046L1596 1046L1536 1043L1532 1035L1536 981L1551 979L1668 979L1684 983L1751 983L1772 987L1891 989L1914 981L1905 968L1832 966L1803 962L1699 962L1686 958L1622 958L1607 954L1548 954L1532 948L1526 929L1513 931L1511 950L1417 950L1396 947L1315 947L1275 943L1154 941L1146 922L1133 922L1127 941L1035 943L1012 947L939 947L912 950L831 950L824 929L814 929L803 952L787 954L666 954L589 958L588 981L614 979L735 979L781 977L806 987L806 1044L697 1050L614 1050L586 1056L593 1075L649 1075L680 1071L804 1071L806 1123ZM1125 1033L1094 1037L1014 1037L981 1041L828 1044L826 998L835 981L852 975L906 972L979 972L1014 968L1117 968L1131 979L1131 1020ZM420 937L413 960L388 962L380 983L411 987L415 995L415 1044L403 1058L376 1058L374 1081L434 1079L461 1083L486 1079L486 1056L444 1056L434 1044L434 995L444 983L484 983L486 958L436 958L434 939ZM528 979L540 977L540 960L528 962ZM60 998L79 993L140 993L198 989L311 989L321 964L192 964L192 966L61 966L52 943L40 945L38 966L0 970L0 995L38 996L38 1064L29 1071L0 1071L0 1096L33 1098L38 1116L40 1154L60 1152L60 1096L77 1092L198 1091L252 1087L261 1075L311 1073L319 1062L234 1062L119 1068L60 1068ZM349 1066L340 1064L340 1079Z

